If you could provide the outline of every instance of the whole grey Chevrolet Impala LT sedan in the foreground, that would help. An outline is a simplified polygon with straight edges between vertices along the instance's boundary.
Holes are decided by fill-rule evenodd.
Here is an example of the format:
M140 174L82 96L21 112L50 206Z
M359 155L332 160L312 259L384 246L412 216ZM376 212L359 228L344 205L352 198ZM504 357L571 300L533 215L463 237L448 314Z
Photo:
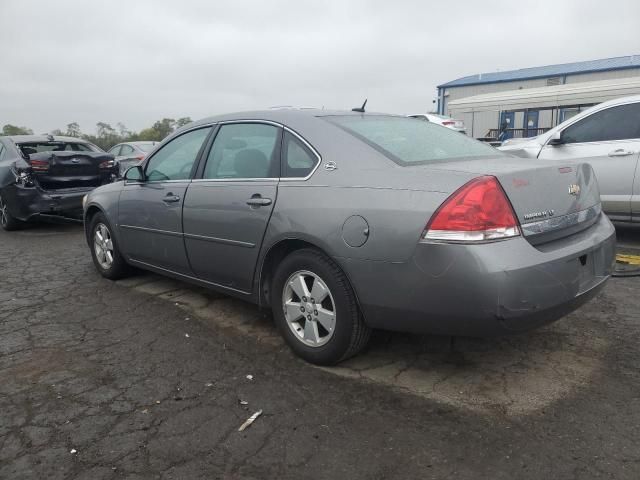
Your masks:
M507 156L428 122L271 110L192 123L84 202L110 279L130 266L271 308L333 364L371 329L521 332L592 298L614 229L588 164Z

